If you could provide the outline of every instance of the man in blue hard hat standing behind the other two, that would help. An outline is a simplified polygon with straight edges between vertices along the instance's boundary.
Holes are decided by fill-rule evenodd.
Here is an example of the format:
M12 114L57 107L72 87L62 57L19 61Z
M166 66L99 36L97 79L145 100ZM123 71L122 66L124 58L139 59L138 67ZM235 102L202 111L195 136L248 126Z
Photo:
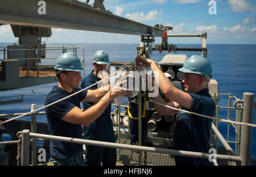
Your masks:
M81 83L82 88L86 88L93 83L96 83L102 79L101 75L98 76L100 71L106 70L106 65L109 64L109 56L104 50L98 50L93 56L93 68L92 72L85 77ZM99 78L100 77L100 78ZM108 84L108 83L107 83ZM97 85L90 87L89 89L97 89ZM82 103L84 109L88 109L94 105L93 102ZM111 103L100 115L100 117L93 121L92 124L84 128L84 136L86 140L115 142L115 136L113 131L112 119L110 117ZM100 146L86 146L85 165L102 165L114 166L117 159L117 151L114 148L100 147Z

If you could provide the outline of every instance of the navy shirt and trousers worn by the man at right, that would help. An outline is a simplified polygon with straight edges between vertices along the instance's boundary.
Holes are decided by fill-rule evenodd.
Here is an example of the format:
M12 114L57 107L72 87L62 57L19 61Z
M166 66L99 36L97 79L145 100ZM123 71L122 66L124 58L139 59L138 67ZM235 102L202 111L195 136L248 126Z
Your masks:
M197 92L196 94L188 93L192 96L193 105L191 109L180 106L185 111L197 112L202 115L214 116L215 104L210 98L208 88ZM212 128L212 119L192 115L179 111L177 115L177 125L174 133L174 143L176 150L197 151L208 153L210 129ZM175 157L176 166L179 165L213 165L208 159Z

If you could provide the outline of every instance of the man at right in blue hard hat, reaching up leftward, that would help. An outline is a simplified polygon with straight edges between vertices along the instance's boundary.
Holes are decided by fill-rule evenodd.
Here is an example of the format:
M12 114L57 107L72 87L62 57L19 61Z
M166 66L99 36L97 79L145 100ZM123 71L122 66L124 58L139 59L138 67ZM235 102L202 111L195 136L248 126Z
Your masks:
M160 95L152 98L156 102L167 104L168 106L184 109L201 115L214 116L215 104L210 98L207 85L212 77L212 65L205 57L191 56L188 58L183 68L179 70L184 73L184 91L174 87L169 79L164 75L158 65L147 58L137 56L135 63L139 66L151 67L154 74L158 73L158 83L160 90L171 102L166 103ZM210 129L212 119L185 113L177 112L174 109L160 106L154 103L159 114L170 115L177 113L177 124L174 132L174 143L176 150L197 151L209 153ZM213 165L208 159L175 157L175 163L180 165Z

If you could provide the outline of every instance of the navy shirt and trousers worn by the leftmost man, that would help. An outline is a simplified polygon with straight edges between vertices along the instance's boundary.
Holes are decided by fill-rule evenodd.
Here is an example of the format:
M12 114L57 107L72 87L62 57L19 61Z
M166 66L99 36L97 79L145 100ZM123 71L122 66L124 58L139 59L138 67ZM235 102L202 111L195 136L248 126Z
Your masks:
M67 92L60 87L54 86L47 95L45 105L63 99L81 88L73 88L73 91ZM63 101L53 104L46 108L46 117L49 134L55 136L82 138L81 125L68 123L62 118L75 107L80 108L80 102L87 95L87 90L71 96ZM49 150L53 165L82 165L82 145L70 142L50 141Z

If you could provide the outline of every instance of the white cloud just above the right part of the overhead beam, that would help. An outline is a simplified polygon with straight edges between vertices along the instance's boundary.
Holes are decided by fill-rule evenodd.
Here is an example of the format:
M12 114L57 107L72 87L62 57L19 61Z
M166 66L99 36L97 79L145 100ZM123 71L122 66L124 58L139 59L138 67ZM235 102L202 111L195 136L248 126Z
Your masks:
M126 14L125 17L137 22L146 22L159 19L159 14L157 10L151 10L148 14L144 14L144 12L133 12L132 14Z

